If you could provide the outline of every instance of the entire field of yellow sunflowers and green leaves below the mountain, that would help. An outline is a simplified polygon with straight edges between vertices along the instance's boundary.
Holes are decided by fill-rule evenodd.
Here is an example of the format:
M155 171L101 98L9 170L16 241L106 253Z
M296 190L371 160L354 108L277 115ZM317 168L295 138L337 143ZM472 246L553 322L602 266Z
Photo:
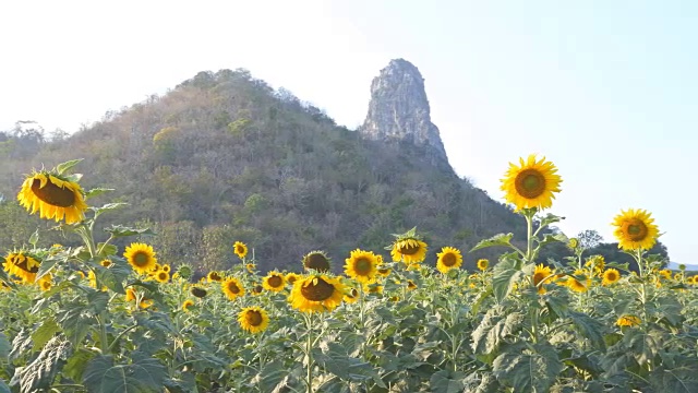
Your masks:
M562 178L544 158L502 180L527 238L482 240L502 254L474 272L454 247L426 260L413 228L385 250L309 250L293 272L258 272L238 241L239 263L198 281L158 260L148 229L100 227L128 206L92 206L109 190L83 190L76 164L19 191L82 241L38 247L36 233L4 250L0 393L698 392L698 277L648 254L660 233L645 210L612 221L631 265L545 230ZM539 260L553 242L575 257Z

